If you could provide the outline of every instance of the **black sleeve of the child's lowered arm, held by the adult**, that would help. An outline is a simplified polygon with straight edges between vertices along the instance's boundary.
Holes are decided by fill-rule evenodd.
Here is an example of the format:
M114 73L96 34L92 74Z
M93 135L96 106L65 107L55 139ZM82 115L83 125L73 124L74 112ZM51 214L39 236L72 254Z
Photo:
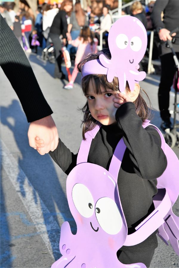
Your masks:
M70 149L64 145L64 143L59 138L58 146L53 152L49 152L51 158L57 163L57 165L65 172L67 175L76 166L77 155L73 154Z

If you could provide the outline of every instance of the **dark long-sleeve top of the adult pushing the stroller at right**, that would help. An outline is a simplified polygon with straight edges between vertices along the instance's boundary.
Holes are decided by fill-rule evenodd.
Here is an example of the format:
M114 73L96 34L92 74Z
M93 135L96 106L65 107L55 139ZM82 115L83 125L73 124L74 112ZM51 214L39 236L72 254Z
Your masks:
M161 12L163 11L163 21ZM155 29L159 27L169 31L179 27L179 1L178 0L157 0L155 2L151 19ZM175 44L179 44L179 32L175 36Z

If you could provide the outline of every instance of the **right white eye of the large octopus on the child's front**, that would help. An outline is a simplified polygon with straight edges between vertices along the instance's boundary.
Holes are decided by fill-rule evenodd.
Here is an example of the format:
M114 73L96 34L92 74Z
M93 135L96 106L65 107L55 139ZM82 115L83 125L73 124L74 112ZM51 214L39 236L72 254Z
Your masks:
M121 213L111 198L100 198L95 205L95 214L99 225L106 233L114 235L121 230Z

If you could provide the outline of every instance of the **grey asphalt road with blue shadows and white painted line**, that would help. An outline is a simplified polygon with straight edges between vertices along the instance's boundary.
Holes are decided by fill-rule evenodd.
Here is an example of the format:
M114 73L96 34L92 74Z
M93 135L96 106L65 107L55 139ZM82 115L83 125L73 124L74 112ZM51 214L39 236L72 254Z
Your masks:
M54 65L41 59L40 54L27 54L41 90L53 110L53 119L64 144L74 153L82 139L79 110L85 97L78 74L72 90L64 90L67 81L53 78ZM66 73L65 67L63 67ZM157 91L160 77L147 75L141 82L153 107L152 123L160 127ZM16 93L0 69L1 88L1 257L0 267L50 267L60 258L60 226L70 223L75 233L75 222L68 208L66 175L50 156L40 156L29 147L29 124ZM25 91L25 85L24 85ZM174 92L170 94L173 110ZM177 117L178 121L179 118ZM179 158L179 148L174 151ZM179 216L179 200L174 213ZM178 256L172 247L158 239L151 268L179 267ZM74 267L77 268L77 267ZM100 267L103 268L103 267Z

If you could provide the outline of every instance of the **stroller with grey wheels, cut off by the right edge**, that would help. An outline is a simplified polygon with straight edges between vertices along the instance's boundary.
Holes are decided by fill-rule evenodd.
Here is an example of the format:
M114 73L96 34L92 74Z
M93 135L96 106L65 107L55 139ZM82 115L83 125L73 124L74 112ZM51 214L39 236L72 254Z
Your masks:
M170 35L172 36L174 32L178 32L178 31L179 31L178 28L174 29L172 32L170 32ZM179 132L177 131L177 129L179 128L179 124L176 123L176 116L177 116L177 113L179 113L179 110L178 110L179 103L177 103L177 93L179 92L179 61L173 49L172 42L167 40L166 46L171 49L172 54L173 54L173 59L175 62L175 76L173 80L173 88L175 89L175 102L174 102L174 111L172 111L174 113L173 127L171 131L170 129L165 130L166 133L164 135L164 138L165 138L166 143L169 145L169 147L173 148L174 146L179 147Z

